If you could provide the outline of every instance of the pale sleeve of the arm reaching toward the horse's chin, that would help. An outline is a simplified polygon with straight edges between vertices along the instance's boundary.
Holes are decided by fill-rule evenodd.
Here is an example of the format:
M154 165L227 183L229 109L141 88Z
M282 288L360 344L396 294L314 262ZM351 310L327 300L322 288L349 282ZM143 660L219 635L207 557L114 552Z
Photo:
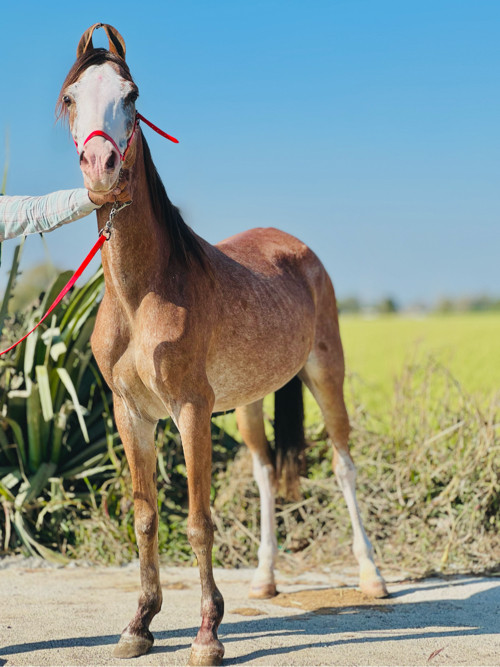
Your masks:
M41 197L0 197L0 241L48 232L98 208L85 188L59 190Z

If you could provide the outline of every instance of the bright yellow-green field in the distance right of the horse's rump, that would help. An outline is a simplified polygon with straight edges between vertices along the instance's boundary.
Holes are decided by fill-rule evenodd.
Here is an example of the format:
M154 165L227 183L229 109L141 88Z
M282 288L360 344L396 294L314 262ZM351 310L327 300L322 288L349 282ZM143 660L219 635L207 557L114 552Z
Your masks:
M340 319L348 373L359 376L365 398L390 398L405 364L431 357L446 366L467 393L480 399L500 391L500 314Z

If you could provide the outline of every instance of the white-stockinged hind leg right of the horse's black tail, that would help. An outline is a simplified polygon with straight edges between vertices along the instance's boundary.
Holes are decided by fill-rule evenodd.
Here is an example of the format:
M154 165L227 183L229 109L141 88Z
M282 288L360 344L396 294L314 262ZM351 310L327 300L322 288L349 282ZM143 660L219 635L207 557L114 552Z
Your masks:
M340 338L334 339L335 354L328 346L313 351L300 374L323 413L326 430L333 445L333 471L344 495L353 528L353 553L359 564L361 591L371 597L388 595L375 565L373 547L368 539L356 500L356 467L349 452L349 417L343 396L344 364ZM326 348L326 350L324 349Z

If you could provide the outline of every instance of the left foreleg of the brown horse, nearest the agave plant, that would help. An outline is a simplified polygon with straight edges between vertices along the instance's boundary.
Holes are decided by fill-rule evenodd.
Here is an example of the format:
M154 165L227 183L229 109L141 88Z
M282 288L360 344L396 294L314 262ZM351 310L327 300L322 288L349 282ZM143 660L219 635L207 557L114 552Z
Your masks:
M134 416L121 399L115 398L114 407L116 424L132 476L142 593L137 612L122 632L113 655L116 658L134 658L146 653L153 645L154 638L149 631L149 624L160 611L162 603L154 447L156 424Z

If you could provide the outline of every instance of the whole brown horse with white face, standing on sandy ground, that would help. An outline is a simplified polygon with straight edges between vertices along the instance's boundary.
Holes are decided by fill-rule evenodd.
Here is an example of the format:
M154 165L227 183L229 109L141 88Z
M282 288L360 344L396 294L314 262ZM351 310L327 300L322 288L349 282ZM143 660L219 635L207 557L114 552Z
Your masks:
M94 49L96 27L105 28L109 51ZM133 203L117 214L102 249L106 287L92 337L94 355L113 391L132 474L141 568L139 606L114 654L137 656L153 644L149 624L162 602L154 434L157 421L170 416L182 438L188 538L202 588L202 621L190 662L220 664L224 648L217 629L223 599L211 563L214 411L236 408L261 496L261 546L250 595L276 593L277 474L264 434L262 399L280 390L277 412L288 399L299 406L297 376L318 401L333 443L333 468L353 524L361 589L373 596L387 591L355 498L344 360L330 278L308 247L276 229L252 229L216 246L194 234L169 201L153 165L138 127L137 95L120 34L108 25L89 28L63 84L59 111L69 117L86 187L109 191L122 172L133 193ZM109 206L98 211L100 228L109 212ZM297 410L289 412L295 422ZM285 454L283 465L290 459L297 464L297 456Z

